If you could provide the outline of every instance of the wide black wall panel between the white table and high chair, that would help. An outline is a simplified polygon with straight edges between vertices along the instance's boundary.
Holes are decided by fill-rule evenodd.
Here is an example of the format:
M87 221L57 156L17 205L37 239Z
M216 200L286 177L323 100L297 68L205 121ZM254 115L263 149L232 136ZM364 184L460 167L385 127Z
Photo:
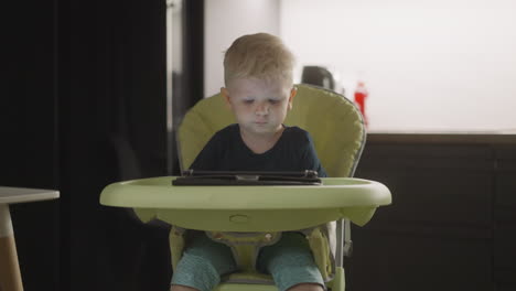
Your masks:
M71 289L143 290L147 227L98 198L115 181L165 174L164 3L72 1L69 11L69 107L61 123ZM166 271L161 249L155 267ZM152 285L166 283L161 273Z

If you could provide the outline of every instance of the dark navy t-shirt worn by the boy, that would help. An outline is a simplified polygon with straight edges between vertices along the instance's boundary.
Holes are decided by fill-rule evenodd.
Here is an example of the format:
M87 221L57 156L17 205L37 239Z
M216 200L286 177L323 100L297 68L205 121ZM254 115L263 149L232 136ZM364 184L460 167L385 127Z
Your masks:
M254 153L241 140L238 123L230 125L212 137L190 168L201 171L315 170L319 176L327 176L310 133L299 127L286 127L270 150Z

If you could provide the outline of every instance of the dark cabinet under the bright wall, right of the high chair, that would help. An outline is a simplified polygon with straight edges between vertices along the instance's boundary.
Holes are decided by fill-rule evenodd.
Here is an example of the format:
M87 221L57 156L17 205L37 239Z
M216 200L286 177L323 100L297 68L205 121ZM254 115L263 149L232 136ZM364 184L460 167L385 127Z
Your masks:
M514 290L516 142L396 138L370 136L355 173L393 205L353 227L347 290Z

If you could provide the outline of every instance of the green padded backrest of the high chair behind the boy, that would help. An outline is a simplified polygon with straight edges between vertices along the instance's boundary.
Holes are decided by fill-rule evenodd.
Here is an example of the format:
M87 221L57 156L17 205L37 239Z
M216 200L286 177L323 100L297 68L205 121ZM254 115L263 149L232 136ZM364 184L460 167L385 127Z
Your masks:
M298 95L284 125L310 132L329 176L352 176L366 139L359 110L334 91L305 84L297 87ZM178 131L181 170L189 169L215 132L235 122L221 94L191 108Z

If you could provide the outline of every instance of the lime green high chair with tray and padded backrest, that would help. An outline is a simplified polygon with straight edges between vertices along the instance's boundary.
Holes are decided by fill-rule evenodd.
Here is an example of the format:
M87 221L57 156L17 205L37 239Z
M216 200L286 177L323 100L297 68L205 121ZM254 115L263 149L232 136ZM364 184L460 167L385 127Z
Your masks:
M284 123L312 136L331 176L322 179L323 185L173 186L175 177L165 176L108 185L100 203L132 207L143 222L170 223L173 268L187 246L189 229L206 230L212 239L229 245L241 272L223 278L216 291L277 290L270 276L256 271L255 260L259 248L276 242L281 231L303 233L326 287L344 291L343 219L365 225L378 206L390 204L390 192L378 182L351 177L366 139L353 103L319 87L297 87ZM222 95L198 101L179 128L181 169L189 169L209 138L234 122ZM332 222L337 222L336 229Z

